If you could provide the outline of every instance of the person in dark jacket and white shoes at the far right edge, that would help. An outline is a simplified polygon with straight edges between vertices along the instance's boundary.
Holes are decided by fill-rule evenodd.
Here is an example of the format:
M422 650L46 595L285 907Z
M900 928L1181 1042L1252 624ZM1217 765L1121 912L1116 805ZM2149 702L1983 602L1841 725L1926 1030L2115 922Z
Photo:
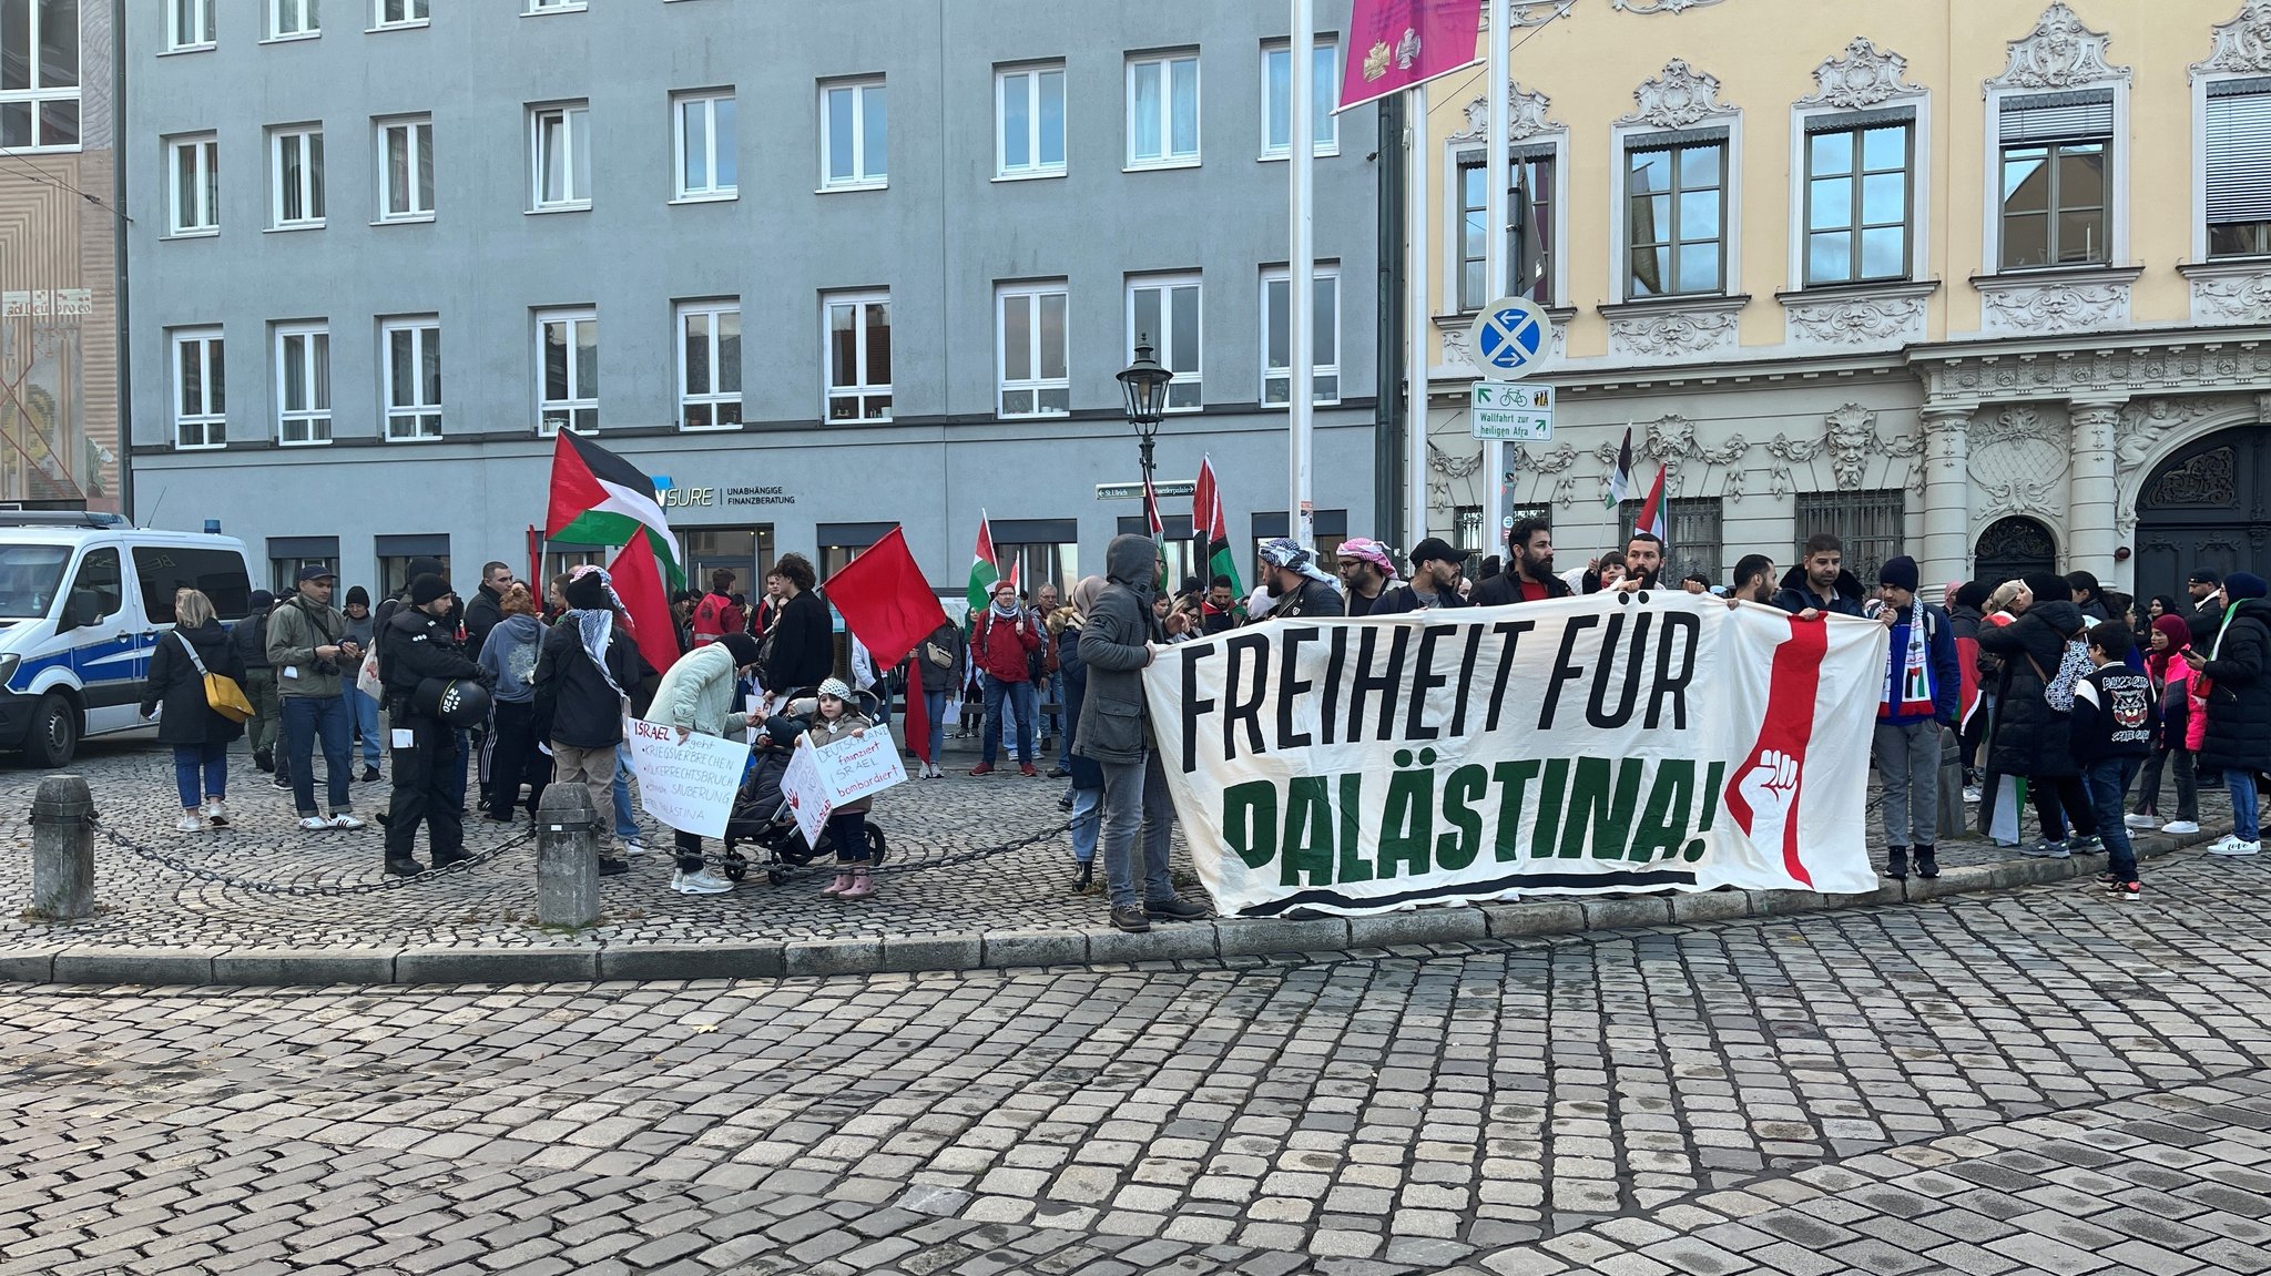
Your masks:
M2212 842L2212 856L2262 851L2262 813L2255 772L2271 770L2271 586L2255 572L2223 577L2223 615L2203 654L2207 733L2201 767L2221 770L2232 792L2232 833Z

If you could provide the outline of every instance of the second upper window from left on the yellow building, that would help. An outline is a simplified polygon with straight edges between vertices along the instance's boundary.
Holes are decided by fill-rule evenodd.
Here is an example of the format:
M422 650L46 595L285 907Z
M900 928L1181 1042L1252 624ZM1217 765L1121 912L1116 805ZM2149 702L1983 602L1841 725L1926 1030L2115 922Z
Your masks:
M1624 152L1624 297L1726 286L1726 138L1642 138Z

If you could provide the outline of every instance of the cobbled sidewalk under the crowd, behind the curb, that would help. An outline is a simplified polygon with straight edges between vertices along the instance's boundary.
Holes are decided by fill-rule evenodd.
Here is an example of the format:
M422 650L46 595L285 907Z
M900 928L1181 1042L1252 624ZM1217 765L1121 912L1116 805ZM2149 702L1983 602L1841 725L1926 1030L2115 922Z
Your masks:
M418 945L618 947L690 945L715 940L811 940L942 935L972 931L1099 929L1104 897L1079 897L1072 842L1056 808L1063 781L999 772L986 779L952 774L917 781L877 799L874 824L890 838L890 865L877 899L838 901L818 895L824 867L799 870L783 885L761 872L731 895L686 897L668 890L670 836L647 822L654 854L634 861L627 876L602 881L602 924L579 935L536 926L536 849L529 824L497 826L468 820L468 849L500 849L486 863L436 879L400 881L382 872L382 831L302 833L293 801L252 770L243 747L232 758L229 804L236 826L225 833L184 836L173 761L148 742L95 742L75 763L95 795L102 824L118 838L186 865L243 883L200 881L175 867L95 842L98 917L50 924L14 910L0 915L0 949L61 949L70 945L134 947L320 947L400 949ZM0 770L0 845L30 845L30 804L41 772ZM370 820L384 811L391 786L357 783L354 806ZM2203 795L2203 822L2228 822L2221 795ZM1042 833L1036 845L986 854L990 847ZM2028 824L2033 836L2033 824ZM1880 829L1871 820L1871 840ZM718 847L711 842L711 854ZM977 856L977 858L972 858ZM2008 858L1985 842L1946 842L1944 865ZM1174 865L1190 876L1176 838ZM284 890L318 890L291 895ZM338 892L343 890L343 892ZM0 856L0 897L30 895L30 858ZM1204 892L1192 890L1204 899Z

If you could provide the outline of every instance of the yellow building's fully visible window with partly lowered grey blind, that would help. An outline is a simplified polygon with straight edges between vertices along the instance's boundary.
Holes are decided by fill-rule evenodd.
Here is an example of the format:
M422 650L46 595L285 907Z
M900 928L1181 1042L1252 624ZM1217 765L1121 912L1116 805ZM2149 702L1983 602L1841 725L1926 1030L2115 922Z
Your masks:
M2112 261L2114 93L2003 98L2003 270Z

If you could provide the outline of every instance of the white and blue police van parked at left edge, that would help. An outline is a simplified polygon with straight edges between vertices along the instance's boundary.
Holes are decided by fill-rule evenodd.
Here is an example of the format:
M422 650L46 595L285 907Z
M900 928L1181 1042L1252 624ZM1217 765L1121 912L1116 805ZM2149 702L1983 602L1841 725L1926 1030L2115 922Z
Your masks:
M148 727L150 652L184 586L204 590L223 624L243 620L245 543L116 513L0 509L0 749L59 767L89 736Z

